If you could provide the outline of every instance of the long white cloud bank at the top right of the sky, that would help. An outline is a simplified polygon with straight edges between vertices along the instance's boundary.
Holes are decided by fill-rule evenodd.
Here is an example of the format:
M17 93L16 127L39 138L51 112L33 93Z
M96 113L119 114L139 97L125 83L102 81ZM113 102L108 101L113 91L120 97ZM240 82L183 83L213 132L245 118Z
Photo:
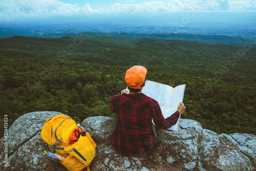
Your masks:
M144 2L139 4L116 3L105 9L104 13L172 13L184 11L229 11L256 9L256 0L170 0Z

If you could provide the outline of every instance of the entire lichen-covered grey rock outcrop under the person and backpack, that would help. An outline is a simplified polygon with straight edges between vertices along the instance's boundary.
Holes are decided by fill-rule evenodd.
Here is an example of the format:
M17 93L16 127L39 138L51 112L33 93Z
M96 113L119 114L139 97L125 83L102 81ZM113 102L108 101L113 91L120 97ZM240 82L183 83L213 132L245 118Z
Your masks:
M8 130L8 167L0 161L0 170L67 170L48 160L48 150L40 131L47 119L58 112L33 112L18 118ZM157 130L152 153L141 157L118 154L109 143L114 129L110 117L89 117L82 124L97 144L91 170L256 170L256 136L216 134L191 119L181 119L179 132ZM5 145L0 155L5 156ZM86 169L84 169L86 170Z

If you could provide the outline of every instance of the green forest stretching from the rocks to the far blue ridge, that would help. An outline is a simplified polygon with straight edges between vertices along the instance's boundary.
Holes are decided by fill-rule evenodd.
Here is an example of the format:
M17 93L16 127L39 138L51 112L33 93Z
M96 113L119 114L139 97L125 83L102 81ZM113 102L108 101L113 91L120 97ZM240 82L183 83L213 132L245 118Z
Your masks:
M256 135L256 48L250 42L236 46L80 34L14 36L1 38L0 44L1 127L4 115L10 126L36 111L61 112L76 122L114 117L111 97L126 88L126 70L141 65L147 80L186 84L181 118L218 134Z

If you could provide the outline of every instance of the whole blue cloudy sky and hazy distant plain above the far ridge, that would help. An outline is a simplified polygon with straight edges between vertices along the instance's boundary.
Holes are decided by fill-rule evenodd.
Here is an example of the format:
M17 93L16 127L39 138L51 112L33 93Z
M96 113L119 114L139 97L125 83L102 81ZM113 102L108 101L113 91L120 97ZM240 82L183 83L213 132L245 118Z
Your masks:
M67 27L70 33L143 32L136 31L137 27L145 27L147 33L146 27L155 27L155 32L151 28L150 33L255 37L256 30L256 0L4 0L0 9L2 35L6 34L5 28L43 30L49 34L69 33Z

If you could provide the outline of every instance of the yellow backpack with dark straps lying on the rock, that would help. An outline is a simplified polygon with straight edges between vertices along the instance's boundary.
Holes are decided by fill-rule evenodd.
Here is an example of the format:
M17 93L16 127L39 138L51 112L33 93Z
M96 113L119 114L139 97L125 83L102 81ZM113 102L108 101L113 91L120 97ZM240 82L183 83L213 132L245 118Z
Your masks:
M90 134L81 134L76 143L68 145L69 137L77 127L79 128L71 117L61 114L48 119L40 135L52 151L55 150L66 158L60 163L69 171L80 171L84 167L90 170L89 165L95 157L96 148ZM79 128L79 132L83 130Z

